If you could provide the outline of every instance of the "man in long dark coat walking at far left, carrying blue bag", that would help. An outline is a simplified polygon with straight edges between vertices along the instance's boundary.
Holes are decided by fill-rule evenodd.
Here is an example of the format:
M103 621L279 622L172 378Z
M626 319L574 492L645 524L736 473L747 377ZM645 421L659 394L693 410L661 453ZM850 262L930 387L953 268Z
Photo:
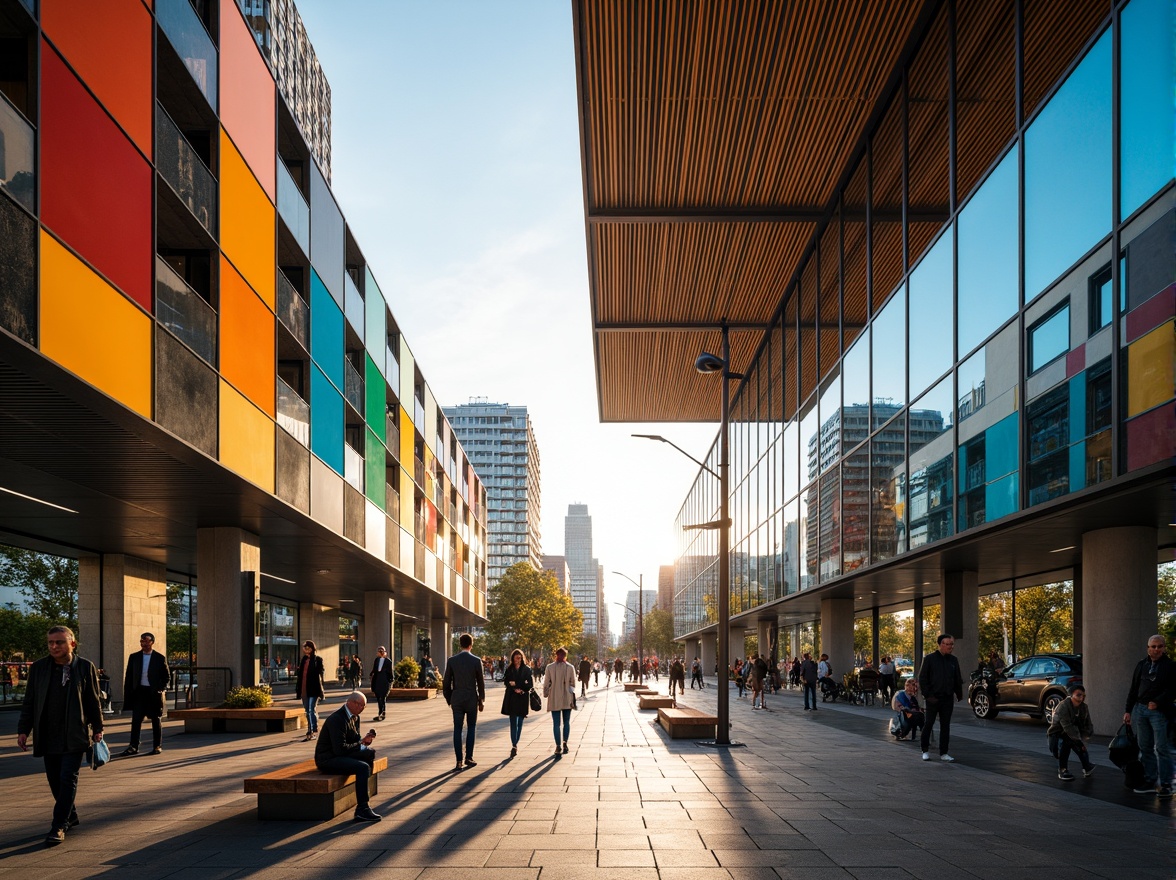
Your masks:
M53 792L53 825L45 842L65 842L66 829L80 825L74 798L78 771L91 742L102 739L102 706L98 695L98 669L74 652L78 641L65 626L52 627L49 655L29 667L25 702L16 721L16 745L45 759L45 775ZM91 734L93 731L93 734Z

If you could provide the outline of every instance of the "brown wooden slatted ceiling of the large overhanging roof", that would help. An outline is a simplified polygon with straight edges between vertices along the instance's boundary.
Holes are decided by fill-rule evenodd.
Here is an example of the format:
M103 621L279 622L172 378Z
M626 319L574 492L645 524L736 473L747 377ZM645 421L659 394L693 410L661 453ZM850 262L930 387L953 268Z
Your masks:
M716 420L717 333L681 326L767 327L924 1L573 7L600 415ZM735 369L761 340L733 334Z

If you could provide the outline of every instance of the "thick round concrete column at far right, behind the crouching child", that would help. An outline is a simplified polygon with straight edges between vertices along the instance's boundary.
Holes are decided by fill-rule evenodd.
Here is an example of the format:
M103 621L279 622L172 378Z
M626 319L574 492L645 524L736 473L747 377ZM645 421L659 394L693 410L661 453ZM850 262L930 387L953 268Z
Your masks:
M1082 684L1096 734L1123 720L1131 671L1156 632L1156 529L1082 535Z

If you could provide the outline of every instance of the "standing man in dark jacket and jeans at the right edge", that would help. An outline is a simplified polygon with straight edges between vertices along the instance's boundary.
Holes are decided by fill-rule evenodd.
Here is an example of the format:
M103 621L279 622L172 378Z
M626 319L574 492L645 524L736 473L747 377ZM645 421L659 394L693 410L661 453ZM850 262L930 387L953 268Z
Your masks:
M1148 655L1135 665L1131 689L1127 693L1123 724L1131 725L1140 742L1143 775L1147 781L1137 794L1152 791L1161 798L1172 796L1172 753L1168 745L1168 725L1176 720L1176 662L1164 652L1162 635L1148 639Z

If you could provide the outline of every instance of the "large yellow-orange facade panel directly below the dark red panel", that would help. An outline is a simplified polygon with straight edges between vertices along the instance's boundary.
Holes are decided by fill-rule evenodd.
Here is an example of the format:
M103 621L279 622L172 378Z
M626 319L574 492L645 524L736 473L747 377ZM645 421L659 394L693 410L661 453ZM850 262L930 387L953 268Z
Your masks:
M148 419L153 325L41 231L41 353Z

